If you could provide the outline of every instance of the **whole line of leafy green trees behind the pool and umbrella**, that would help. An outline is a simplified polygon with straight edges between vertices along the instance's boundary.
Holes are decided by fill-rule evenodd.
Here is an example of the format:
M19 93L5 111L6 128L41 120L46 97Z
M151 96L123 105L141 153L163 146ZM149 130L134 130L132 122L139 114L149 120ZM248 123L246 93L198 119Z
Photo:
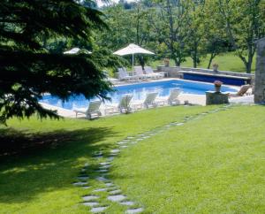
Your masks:
M96 34L99 46L117 50L133 42L181 65L208 54L234 51L251 73L255 42L265 36L264 0L142 0L104 7L110 30ZM142 60L142 59L140 59Z

